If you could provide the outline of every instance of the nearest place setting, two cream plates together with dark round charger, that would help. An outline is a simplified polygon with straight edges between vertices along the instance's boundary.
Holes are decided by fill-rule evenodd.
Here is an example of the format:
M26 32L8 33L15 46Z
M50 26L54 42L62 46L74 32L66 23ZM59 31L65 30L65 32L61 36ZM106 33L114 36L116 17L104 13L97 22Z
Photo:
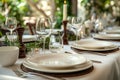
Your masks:
M45 51L25 58L20 65L20 70L25 73L52 76L53 80L54 78L64 80L62 77L67 78L68 74L73 77L89 74L94 70L94 65L81 54Z

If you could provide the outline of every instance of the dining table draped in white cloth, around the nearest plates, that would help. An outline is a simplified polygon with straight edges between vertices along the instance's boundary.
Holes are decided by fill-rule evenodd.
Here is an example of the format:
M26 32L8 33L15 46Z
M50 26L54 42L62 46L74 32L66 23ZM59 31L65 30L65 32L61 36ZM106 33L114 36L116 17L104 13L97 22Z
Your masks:
M90 38L93 39L93 38ZM110 41L114 44L120 45L119 41ZM68 73L44 73L39 72L38 74L47 75L48 77L55 77L57 80L120 80L120 50L119 47L117 50L109 51L102 55L102 52L92 52L92 51L79 51L71 47L71 43L64 45L65 54L80 54L86 57L88 60L92 61L92 67ZM21 71L29 72L29 69L24 67L22 63L26 58L19 58L16 63L8 67L0 67L0 77L2 75L19 77L16 75L18 67L21 68ZM21 78L22 79L22 78ZM25 80L52 80L47 79L38 75L37 77L26 77ZM0 78L0 80L2 80ZM11 79L12 80L12 79ZM14 80L14 79L13 79ZM54 79L53 79L54 80Z

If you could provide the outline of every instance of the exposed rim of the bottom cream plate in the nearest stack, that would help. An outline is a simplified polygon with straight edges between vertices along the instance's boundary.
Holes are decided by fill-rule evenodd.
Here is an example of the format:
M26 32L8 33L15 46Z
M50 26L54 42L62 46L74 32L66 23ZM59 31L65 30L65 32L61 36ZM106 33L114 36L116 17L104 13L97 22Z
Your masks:
M38 66L34 66L26 61L23 62L23 66L35 71L39 71L39 72L46 72L46 73L71 73L71 72L77 72L77 71L82 71L82 70L86 70L90 67L93 66L93 63L91 61L87 61L86 63L82 64L82 65L77 65L74 67L69 67L69 68L64 68L64 69L50 69L50 68L45 68L45 67L38 67Z

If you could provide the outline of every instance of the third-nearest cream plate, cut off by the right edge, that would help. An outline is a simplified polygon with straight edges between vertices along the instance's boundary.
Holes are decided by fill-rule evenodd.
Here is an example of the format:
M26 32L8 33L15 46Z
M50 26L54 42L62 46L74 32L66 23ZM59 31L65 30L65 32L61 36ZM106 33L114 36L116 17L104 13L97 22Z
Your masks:
M120 40L120 34L96 34L93 37L97 39Z

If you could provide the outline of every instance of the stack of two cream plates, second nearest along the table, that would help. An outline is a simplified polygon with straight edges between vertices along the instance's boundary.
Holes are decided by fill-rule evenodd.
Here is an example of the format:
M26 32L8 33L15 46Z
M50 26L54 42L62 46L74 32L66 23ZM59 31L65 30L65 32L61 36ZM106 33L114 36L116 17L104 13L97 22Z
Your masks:
M93 39L83 39L72 44L73 48L90 51L107 51L117 49L118 46L111 42L99 41Z

